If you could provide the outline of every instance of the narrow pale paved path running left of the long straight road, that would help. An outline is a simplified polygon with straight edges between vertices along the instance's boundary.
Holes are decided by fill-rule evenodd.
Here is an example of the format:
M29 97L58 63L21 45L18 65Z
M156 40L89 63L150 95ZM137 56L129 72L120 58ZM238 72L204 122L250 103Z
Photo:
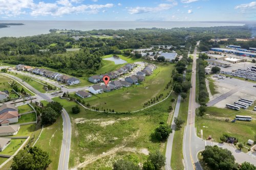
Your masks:
M174 117L178 117L179 110L180 110L180 102L181 102L181 95L179 94L177 98L175 110L174 110L172 125L171 125L173 129L173 133L169 135L167 139L167 144L166 144L166 152L165 152L166 165L164 166L165 170L172 169L172 167L170 166L170 161L172 159L173 141L174 141L175 127L176 127L174 123Z

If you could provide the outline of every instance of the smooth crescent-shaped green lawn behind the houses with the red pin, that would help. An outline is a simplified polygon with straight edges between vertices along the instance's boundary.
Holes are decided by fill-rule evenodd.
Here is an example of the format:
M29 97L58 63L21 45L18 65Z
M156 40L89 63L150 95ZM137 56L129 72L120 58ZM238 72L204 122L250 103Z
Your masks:
M91 98L83 99L83 101L102 111L114 109L117 112L127 112L141 109L144 103L153 100L159 94L163 94L159 101L166 97L171 87L165 89L165 86L171 79L170 74L173 69L173 65L159 64L158 68L154 70L154 74L146 77L140 85L96 94Z

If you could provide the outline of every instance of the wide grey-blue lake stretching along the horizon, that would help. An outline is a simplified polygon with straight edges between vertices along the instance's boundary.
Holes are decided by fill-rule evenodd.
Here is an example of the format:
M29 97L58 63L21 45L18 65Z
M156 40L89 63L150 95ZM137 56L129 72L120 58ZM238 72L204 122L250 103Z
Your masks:
M0 37L24 37L38 34L47 34L50 29L67 30L99 30L99 29L136 29L136 28L188 28L188 27L217 27L217 26L243 26L244 23L216 23L216 22L155 22L155 21L9 21L0 23L24 23L22 26L10 26L0 29Z

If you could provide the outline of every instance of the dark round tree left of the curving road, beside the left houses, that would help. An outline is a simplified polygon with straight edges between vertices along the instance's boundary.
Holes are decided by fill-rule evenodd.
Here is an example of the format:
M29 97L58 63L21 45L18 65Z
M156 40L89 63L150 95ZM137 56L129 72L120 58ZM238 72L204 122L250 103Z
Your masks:
M41 120L42 125L53 124L56 122L59 114L51 107L46 107L42 110Z

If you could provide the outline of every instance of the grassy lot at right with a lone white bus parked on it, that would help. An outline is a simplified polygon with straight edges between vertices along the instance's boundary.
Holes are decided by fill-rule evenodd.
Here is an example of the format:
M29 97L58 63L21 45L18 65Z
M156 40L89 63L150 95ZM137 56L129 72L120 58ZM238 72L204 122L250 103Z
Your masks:
M254 120L251 122L236 121L231 123L230 120L234 119L236 115L252 116ZM229 118L229 121L225 122L225 118ZM247 143L248 139L254 139L256 135L255 118L256 114L248 110L240 109L240 111L234 111L208 107L203 117L196 118L197 133L202 129L204 139L211 135L217 142L220 142L222 134L227 133L232 137L237 137L239 142ZM200 135L198 134L198 136Z

